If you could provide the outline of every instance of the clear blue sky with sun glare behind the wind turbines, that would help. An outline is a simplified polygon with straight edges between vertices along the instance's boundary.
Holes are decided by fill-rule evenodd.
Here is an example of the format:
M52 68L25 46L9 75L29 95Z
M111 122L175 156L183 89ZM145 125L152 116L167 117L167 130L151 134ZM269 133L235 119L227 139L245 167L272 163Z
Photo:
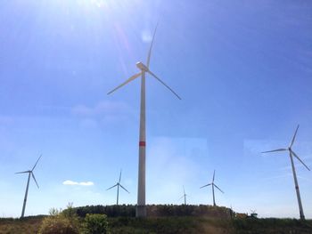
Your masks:
M146 61L182 101L147 77L148 204L256 210L299 217L286 147L312 167L312 4L309 1L55 0L0 3L0 215L110 205L119 176L136 203L139 79ZM296 161L296 160L295 160ZM296 161L306 217L312 174ZM66 185L65 181L93 185Z

